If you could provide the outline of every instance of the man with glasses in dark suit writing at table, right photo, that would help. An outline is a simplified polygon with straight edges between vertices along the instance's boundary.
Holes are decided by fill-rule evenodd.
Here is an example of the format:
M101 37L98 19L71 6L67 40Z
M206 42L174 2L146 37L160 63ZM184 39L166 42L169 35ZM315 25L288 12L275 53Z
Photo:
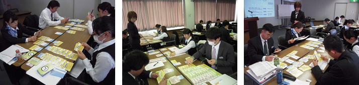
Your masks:
M259 36L253 37L248 41L249 65L259 61L273 61L271 53L281 50L274 47L273 33L275 28L272 24L264 24Z

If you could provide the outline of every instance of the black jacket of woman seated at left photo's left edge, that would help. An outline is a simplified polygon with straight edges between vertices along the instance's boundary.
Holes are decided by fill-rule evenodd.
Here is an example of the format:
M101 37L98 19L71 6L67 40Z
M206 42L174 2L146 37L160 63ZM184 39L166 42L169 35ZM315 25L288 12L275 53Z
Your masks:
M23 33L25 33L27 35L30 35L30 36L34 36L34 33L35 33L34 31L31 31L28 28L23 27L20 23L18 23L18 28L19 28L19 30L17 30L17 32L18 32L18 37L17 38L11 36L8 33L9 32L8 29L5 29L4 27L1 29L1 32L2 32L2 35L3 35L3 38L4 38L4 44L1 45L2 46L1 48L6 49L6 48L9 48L11 45L15 45L15 44L18 44L18 43L25 43L26 38L23 35Z

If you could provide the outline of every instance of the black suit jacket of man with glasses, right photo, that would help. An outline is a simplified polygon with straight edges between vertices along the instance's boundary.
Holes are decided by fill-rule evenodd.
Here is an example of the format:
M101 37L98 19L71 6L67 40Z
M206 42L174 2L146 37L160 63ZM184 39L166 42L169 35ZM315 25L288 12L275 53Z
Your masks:
M264 56L263 53L263 45L261 43L260 36L255 36L248 41L248 59L249 65L254 64L256 62L262 61L262 58ZM273 38L270 38L267 40L268 45L268 51L269 53L273 53L276 50L276 47L274 47L274 41Z

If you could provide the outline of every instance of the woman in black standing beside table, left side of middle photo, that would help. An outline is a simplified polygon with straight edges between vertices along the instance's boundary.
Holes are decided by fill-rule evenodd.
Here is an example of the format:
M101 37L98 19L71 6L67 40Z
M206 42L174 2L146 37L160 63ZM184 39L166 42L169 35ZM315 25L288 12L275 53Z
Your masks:
M127 13L128 23L127 31L130 34L130 50L141 50L140 46L140 35L138 34L137 26L135 22L137 20L137 14L135 11L130 11Z

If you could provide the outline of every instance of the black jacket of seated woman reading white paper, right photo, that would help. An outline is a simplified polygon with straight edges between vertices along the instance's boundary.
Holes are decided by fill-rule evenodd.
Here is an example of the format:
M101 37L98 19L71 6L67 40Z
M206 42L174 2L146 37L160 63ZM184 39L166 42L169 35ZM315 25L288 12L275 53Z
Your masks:
M297 32L297 33L298 33L298 32ZM301 35L300 33L298 33L298 36L301 37L302 35ZM286 40L285 40L285 42L281 42L281 43L282 43L283 46L286 46L286 47L289 48L289 47L292 47L293 45L298 44L298 43L300 43L300 42L303 41L303 40L296 40L296 41L294 41L293 43L289 44L289 43L288 43L288 40L291 40L291 39L294 39L294 38L297 38L297 36L296 36L296 35L293 35L293 33L292 33L291 30L288 30L288 31L286 32Z

